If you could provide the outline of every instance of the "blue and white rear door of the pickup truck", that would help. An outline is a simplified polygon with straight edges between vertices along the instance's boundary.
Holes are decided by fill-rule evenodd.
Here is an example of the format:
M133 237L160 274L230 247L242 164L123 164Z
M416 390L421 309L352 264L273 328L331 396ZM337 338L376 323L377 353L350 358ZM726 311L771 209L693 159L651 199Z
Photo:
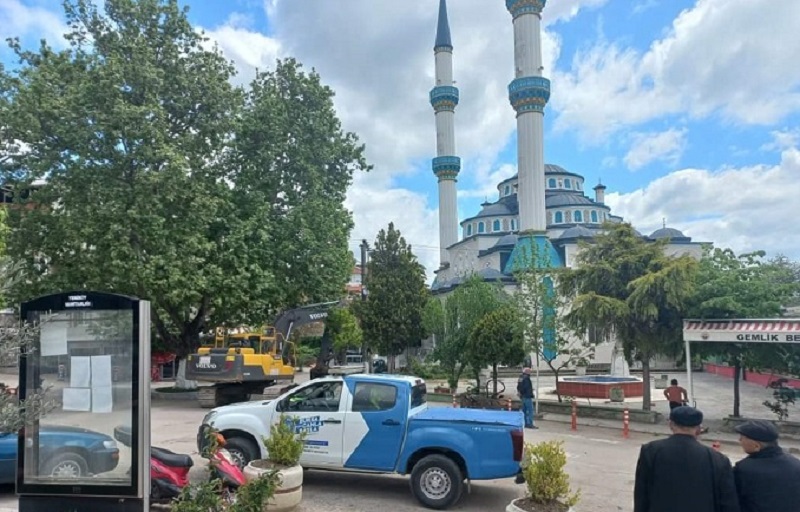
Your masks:
M392 471L403 444L408 393L389 382L349 381L344 467Z

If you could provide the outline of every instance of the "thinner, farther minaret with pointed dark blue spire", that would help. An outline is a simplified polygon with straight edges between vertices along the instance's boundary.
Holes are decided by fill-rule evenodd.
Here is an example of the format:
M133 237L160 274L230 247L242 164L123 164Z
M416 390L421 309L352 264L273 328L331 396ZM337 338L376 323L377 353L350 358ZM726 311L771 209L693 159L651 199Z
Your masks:
M431 89L431 105L436 112L436 158L433 174L439 178L439 262L449 263L447 248L458 242L458 203L456 181L461 159L456 154L455 110L458 89L453 86L453 43L447 20L447 2L439 0L436 43L436 86Z

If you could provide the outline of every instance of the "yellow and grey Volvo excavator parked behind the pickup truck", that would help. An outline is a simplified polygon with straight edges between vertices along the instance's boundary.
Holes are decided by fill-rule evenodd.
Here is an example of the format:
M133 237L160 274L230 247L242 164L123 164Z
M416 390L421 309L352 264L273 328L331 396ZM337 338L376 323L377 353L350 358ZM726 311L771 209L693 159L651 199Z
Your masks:
M324 321L338 302L312 304L281 313L273 326L214 330L213 341L200 347L186 361L186 378L211 382L198 391L200 406L218 407L246 402L265 387L294 382L292 329ZM325 338L325 336L323 336Z

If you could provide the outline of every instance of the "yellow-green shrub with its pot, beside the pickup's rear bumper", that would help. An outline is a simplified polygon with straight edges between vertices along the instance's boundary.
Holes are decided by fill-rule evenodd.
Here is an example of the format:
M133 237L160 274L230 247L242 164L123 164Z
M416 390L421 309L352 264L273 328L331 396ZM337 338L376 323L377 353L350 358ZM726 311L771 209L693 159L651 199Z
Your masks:
M567 454L563 441L525 444L522 474L527 492L512 501L506 512L574 512L580 491L573 493L569 475L564 471Z

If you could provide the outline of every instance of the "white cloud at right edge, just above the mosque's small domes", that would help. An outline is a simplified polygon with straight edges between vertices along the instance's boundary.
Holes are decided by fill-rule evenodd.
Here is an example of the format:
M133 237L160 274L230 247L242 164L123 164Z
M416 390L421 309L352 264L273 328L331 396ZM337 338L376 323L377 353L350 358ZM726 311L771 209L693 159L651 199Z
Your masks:
M800 230L793 222L799 195L800 149L795 146L785 149L774 166L684 169L628 194L608 194L606 203L645 234L665 218L694 241L798 258Z

